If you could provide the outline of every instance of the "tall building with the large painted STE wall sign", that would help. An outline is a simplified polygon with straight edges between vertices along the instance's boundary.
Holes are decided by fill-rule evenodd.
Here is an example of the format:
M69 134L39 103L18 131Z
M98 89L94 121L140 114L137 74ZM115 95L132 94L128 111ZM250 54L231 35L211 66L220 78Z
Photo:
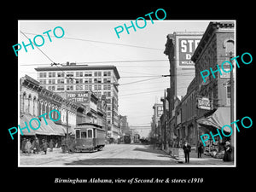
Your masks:
M170 62L171 114L177 96L185 96L190 82L195 78L195 63L191 61L191 57L203 34L204 32L173 32L166 37L164 54Z

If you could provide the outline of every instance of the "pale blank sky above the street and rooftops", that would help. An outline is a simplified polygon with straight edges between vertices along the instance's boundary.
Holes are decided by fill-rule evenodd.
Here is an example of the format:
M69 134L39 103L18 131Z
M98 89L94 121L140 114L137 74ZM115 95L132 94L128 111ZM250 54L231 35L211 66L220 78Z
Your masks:
M133 20L134 21L134 20ZM20 31L43 34L56 26L61 26L65 35L63 38L52 37L45 42L40 49L56 63L70 62L92 62L92 61L138 61L144 62L115 62L106 63L118 68L119 84L133 81L152 79L156 75L169 73L168 57L163 53L166 44L166 35L172 32L205 32L209 20L154 20L154 24L147 20L147 26L143 29L137 28L134 32L131 28L130 34L119 33L120 38L114 32L114 27L128 26L131 20L20 20ZM143 26L143 23L139 24ZM56 31L57 32L57 31ZM53 36L52 32L49 32ZM28 38L35 35L26 34ZM92 41L102 41L113 44L130 44L156 49L142 49L113 44L100 44L89 41L73 40L67 38L80 38ZM38 38L39 39L39 38ZM19 44L28 40L19 32ZM39 40L38 40L39 44ZM51 61L37 48L27 47L28 52L22 48L19 51L19 79L25 74L37 79L35 67L48 67ZM15 53L14 53L15 54ZM166 60L166 61L145 61ZM44 64L44 65L42 65ZM101 63L97 63L101 64ZM91 65L97 65L91 64ZM139 76L139 78L125 78ZM141 77L153 76L153 77ZM136 84L119 86L119 114L127 115L129 125L150 125L153 115L154 102L160 102L164 89L169 86L169 77L152 79ZM142 94L139 94L143 92ZM145 93L146 92L146 93Z

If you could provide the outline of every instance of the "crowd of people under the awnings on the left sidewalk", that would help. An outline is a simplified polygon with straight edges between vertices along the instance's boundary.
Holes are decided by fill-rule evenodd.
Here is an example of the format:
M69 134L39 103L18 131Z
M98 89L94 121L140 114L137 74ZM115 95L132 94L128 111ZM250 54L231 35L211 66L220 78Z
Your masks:
M42 139L42 143L39 143L38 137L35 137L33 142L31 143L30 138L23 138L20 146L21 154L38 154L43 151L44 154L47 154L47 148L49 147L49 151L52 152L55 147L55 143L52 139L50 139L49 143L45 139Z

